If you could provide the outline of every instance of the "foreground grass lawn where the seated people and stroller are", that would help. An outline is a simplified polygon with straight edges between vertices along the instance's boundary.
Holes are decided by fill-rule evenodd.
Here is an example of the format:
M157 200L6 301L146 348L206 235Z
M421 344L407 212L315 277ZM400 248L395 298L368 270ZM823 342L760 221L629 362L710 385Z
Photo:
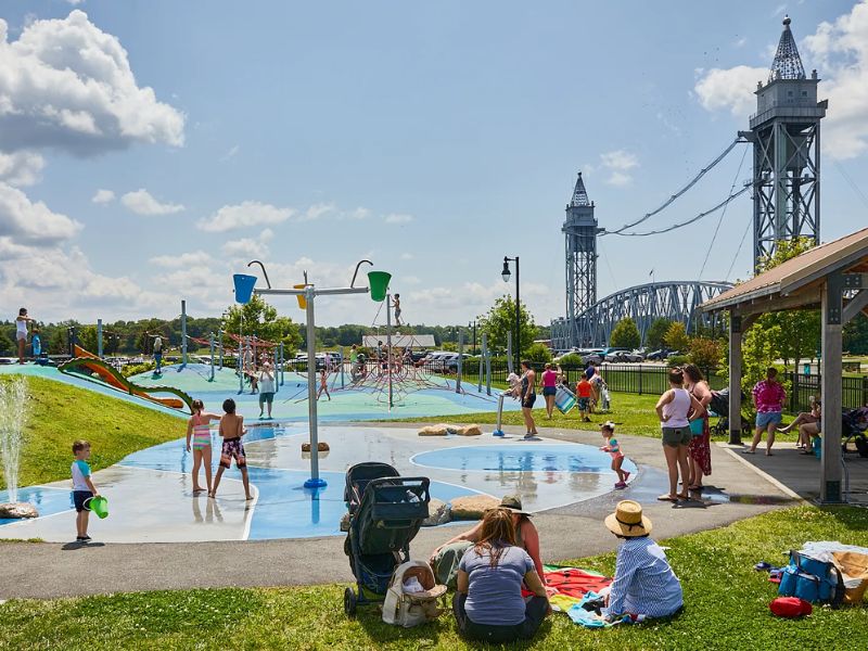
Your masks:
M602 526L602 524L601 524ZM666 541L686 608L671 621L587 630L556 613L528 649L857 649L865 609L768 610L776 586L753 570L807 540L868 546L868 511L799 507ZM612 539L613 548L615 539ZM335 562L346 562L335 559ZM614 553L566 561L611 574ZM863 642L858 642L863 640ZM343 612L343 586L138 592L0 605L0 649L465 649L451 616L398 629L375 608ZM471 647L478 648L478 647Z

